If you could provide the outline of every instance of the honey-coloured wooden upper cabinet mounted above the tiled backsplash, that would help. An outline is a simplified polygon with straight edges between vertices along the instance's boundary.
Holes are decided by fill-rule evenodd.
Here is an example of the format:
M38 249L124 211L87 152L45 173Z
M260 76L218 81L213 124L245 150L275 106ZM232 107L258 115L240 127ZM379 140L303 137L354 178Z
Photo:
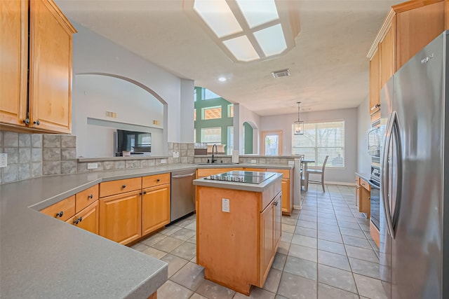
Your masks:
M0 128L70 133L74 27L53 0L0 1Z

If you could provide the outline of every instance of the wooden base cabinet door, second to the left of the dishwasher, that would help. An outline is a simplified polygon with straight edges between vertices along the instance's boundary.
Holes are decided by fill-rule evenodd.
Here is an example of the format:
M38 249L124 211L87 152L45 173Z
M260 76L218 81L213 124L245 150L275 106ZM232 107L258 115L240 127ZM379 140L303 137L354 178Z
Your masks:
M128 244L141 235L140 191L100 198L100 236Z

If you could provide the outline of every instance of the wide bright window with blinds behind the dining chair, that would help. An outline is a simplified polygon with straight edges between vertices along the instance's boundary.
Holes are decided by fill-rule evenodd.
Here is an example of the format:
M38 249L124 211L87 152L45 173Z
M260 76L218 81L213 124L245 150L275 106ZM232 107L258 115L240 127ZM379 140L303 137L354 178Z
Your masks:
M322 123L304 123L304 135L293 134L292 154L304 155L304 159L315 160L312 166L344 167L344 120Z

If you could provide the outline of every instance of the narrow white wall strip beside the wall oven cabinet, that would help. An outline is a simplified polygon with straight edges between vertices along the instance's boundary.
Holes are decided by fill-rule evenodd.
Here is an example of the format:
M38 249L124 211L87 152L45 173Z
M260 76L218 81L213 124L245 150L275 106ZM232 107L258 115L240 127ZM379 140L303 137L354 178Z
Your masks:
M371 172L371 157L368 155L368 135L367 132L371 127L370 117L370 103L369 98L361 102L357 109L358 123L357 123L357 172L361 174L370 174Z

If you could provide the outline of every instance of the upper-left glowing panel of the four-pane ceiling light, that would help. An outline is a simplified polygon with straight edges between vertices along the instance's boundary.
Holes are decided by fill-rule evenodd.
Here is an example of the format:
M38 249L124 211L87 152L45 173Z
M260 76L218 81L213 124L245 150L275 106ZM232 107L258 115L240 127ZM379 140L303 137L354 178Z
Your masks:
M218 38L242 32L225 0L195 0L194 10Z

